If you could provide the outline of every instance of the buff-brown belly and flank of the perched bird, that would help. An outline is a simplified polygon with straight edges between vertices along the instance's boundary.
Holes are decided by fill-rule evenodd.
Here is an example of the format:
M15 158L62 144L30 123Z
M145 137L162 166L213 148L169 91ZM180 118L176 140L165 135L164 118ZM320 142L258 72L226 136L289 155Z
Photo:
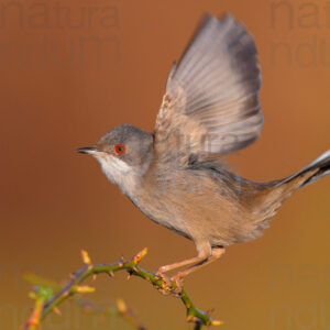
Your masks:
M163 190L142 185L140 194L131 199L151 220L194 241L229 245L254 238L252 222L237 196L231 191L219 193L208 177L198 189L187 190L184 179L189 184L190 178L183 178L180 173Z

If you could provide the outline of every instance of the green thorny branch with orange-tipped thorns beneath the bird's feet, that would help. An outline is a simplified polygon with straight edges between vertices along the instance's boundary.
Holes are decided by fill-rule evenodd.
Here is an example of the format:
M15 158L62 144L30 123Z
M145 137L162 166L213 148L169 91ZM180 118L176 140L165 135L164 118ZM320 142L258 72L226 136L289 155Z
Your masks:
M42 280L41 285L37 286L37 289L30 294L30 297L35 300L35 305L30 319L25 323L25 330L37 330L41 321L43 321L44 318L52 311L58 314L58 306L69 297L73 297L76 294L94 293L94 287L81 285L87 277L95 277L97 274L101 273L106 273L110 275L110 277L113 277L113 274L119 271L128 271L130 275L139 276L147 280L163 294L174 294L180 298L187 309L186 320L188 322L196 323L195 329L200 329L201 326L222 324L221 321L212 319L209 316L209 312L204 312L197 309L185 289L177 293L178 287L175 282L169 284L164 278L160 278L158 276L141 268L139 263L145 256L146 252L147 250L144 249L131 260L124 261L121 258L119 262L112 264L92 264L88 253L86 251L81 251L84 267L74 273L70 280L64 287L59 287L58 285L55 286L54 283L48 280ZM31 278L29 280L33 282ZM131 310L125 307L122 300L117 302L117 311L119 315L122 315L125 319L130 320L136 329L145 329L140 324Z

